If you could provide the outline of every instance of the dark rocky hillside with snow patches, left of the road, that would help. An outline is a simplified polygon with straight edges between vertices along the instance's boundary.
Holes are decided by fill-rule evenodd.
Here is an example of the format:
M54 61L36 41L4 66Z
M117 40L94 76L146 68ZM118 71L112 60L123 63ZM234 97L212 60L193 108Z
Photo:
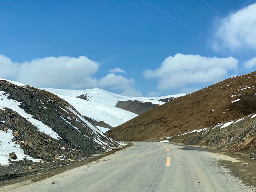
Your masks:
M117 148L57 95L0 80L0 164L81 159ZM14 152L15 154L10 154Z

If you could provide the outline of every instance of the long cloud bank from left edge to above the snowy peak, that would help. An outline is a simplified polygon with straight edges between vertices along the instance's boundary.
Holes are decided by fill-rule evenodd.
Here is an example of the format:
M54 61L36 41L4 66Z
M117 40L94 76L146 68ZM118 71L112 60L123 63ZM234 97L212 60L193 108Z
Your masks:
M93 76L99 69L99 63L85 56L46 57L17 63L0 55L0 78L14 80L34 87L62 89L111 88L129 96L141 96L133 89L134 79L113 73L101 79ZM116 68L119 69L119 68Z

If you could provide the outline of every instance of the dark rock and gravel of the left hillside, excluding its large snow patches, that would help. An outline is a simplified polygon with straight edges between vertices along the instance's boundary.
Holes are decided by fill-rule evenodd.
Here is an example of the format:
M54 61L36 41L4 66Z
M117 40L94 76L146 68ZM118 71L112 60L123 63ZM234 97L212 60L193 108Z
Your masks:
M11 85L1 80L0 91L4 91L6 93L4 94L8 95L8 99L20 102L20 108L27 114L32 115L34 119L43 122L43 124L58 133L62 138L53 139L49 135L40 132L31 122L10 108L0 108L0 119L5 122L0 123L0 131L3 131L5 128L9 130L6 129L8 132L12 131L12 142L15 146L17 145L17 148L23 149L27 156L41 159L37 162L40 166L43 165L43 167L47 168L46 166L49 166L49 163L60 164L68 162L71 159L74 161L84 159L90 157L92 154L102 153L110 149L103 149L103 144L100 145L95 142L95 139L103 141L104 143L111 143L111 147L119 146L117 142L108 136L105 137L89 128L86 122L82 120L82 118L84 118L86 121L85 117L77 112L69 103L52 93L33 87L25 88ZM0 102L2 102L2 100L0 100ZM45 110L43 106L45 106L47 110ZM79 129L81 133L74 127ZM56 157L56 154L61 154L61 157ZM31 162L29 161L29 157L23 159L16 157L21 161L17 163L16 161L15 163L12 161L8 169L10 170L15 164L18 164L17 167L20 170L27 170L28 166L25 165L27 165L27 162ZM12 158L10 157L10 159ZM22 168L23 166L24 168ZM40 166L37 168L40 168ZM15 169L17 169L17 167ZM0 166L0 179L1 174L5 173L5 170L8 169L4 169Z

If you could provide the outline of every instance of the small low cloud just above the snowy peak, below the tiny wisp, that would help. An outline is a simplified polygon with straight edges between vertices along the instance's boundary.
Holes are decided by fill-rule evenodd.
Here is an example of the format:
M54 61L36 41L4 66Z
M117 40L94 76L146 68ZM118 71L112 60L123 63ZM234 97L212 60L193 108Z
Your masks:
M122 75L108 74L99 81L101 87L111 87L111 89L124 90L121 94L125 96L142 96L140 91L135 91L132 86L134 79L127 79Z

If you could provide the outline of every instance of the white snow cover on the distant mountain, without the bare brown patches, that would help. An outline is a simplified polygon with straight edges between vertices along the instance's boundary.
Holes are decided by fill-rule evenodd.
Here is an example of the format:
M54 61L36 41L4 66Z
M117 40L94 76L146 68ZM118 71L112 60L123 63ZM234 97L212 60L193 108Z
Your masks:
M158 101L165 98L177 98L184 96L186 93L167 95L163 97L126 97L111 93L102 89L87 89L87 90L66 90L40 88L45 91L56 94L61 99L67 101L75 107L75 109L83 116L94 119L98 122L103 121L111 127L117 127L120 124L137 117L138 115L124 109L115 107L118 101L139 101L149 102L152 104L162 105L165 102ZM86 96L87 100L77 98L80 95Z

